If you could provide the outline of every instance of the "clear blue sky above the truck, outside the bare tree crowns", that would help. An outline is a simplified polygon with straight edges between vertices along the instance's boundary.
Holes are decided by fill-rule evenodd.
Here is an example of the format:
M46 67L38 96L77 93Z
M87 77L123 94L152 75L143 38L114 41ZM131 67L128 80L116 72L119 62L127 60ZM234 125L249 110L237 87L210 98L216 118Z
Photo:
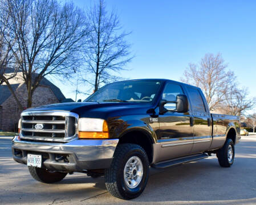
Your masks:
M188 63L220 52L239 85L256 96L256 1L105 2L109 10L117 10L124 30L132 31L127 40L135 58L121 76L179 81ZM94 1L74 3L88 7ZM75 85L56 84L66 97L75 99Z

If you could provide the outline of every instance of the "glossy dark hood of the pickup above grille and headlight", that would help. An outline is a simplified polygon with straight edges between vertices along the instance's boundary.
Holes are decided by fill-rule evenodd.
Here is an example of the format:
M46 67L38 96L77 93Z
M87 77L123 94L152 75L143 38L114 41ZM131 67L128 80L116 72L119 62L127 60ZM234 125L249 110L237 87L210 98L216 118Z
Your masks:
M64 110L79 114L79 117L107 118L126 114L145 114L151 108L152 105L147 103L82 102L43 105L26 109L24 112Z

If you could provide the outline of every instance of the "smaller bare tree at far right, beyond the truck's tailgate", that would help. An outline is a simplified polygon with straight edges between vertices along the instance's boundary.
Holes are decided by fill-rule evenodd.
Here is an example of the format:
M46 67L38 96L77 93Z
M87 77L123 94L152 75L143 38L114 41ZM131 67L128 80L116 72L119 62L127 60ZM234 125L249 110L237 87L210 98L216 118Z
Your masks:
M250 110L255 105L255 98L248 97L247 88L233 88L229 93L225 93L225 101L222 107L226 114L243 116L247 110Z

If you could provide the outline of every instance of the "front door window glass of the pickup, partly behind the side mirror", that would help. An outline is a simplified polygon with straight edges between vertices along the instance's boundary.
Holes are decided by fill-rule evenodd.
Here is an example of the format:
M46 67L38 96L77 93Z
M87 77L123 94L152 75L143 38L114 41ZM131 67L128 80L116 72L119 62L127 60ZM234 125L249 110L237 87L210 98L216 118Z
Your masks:
M167 101L176 101L176 96L183 94L180 85L169 83L165 86L164 92L162 93L162 99ZM165 104L166 109L174 110L176 109L175 103Z

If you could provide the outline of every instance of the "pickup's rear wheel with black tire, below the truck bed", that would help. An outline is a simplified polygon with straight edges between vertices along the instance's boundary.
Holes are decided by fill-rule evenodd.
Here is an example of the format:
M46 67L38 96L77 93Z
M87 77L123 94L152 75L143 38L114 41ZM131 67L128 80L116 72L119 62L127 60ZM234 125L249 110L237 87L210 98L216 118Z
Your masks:
M218 162L222 167L230 167L234 163L235 147L231 139L227 139L224 146L217 152Z

